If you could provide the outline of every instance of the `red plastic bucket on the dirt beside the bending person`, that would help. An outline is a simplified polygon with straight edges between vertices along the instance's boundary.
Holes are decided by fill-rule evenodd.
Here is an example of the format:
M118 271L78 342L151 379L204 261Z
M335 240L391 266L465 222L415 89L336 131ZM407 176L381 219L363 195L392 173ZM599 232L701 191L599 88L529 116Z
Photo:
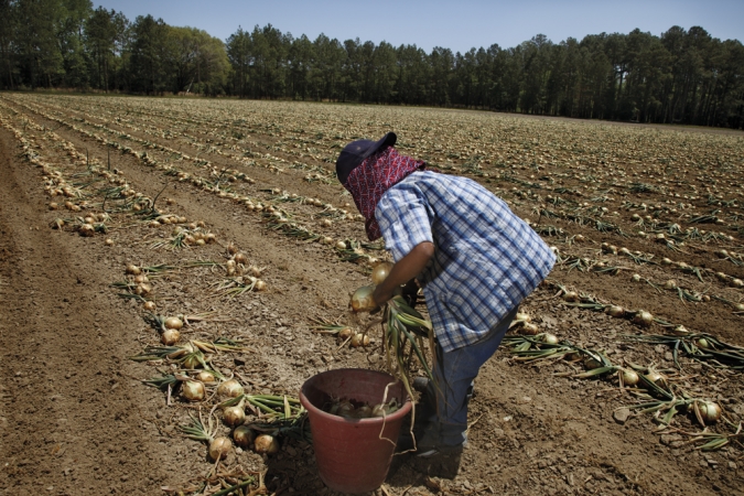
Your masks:
M302 385L300 401L308 410L317 470L331 489L365 493L385 482L411 402L403 385L397 382L388 388L387 401L395 398L403 407L385 420L344 419L322 408L333 398L377 405L382 401L386 386L395 380L375 370L342 368L319 374Z

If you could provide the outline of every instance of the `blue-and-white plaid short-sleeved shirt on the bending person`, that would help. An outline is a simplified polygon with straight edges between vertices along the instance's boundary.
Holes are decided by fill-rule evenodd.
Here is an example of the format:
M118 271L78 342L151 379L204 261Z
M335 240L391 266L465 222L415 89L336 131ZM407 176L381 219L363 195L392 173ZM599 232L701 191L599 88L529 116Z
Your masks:
M375 216L395 261L434 244L418 280L444 352L487 334L556 262L503 200L466 177L413 172L382 195Z

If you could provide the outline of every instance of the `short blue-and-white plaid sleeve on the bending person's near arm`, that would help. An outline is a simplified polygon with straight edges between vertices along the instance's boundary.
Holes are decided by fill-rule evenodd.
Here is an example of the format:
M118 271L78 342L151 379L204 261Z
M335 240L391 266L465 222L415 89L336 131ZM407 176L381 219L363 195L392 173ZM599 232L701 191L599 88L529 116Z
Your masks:
M417 187L399 183L388 190L375 209L385 248L397 262L423 241L433 242L431 208Z

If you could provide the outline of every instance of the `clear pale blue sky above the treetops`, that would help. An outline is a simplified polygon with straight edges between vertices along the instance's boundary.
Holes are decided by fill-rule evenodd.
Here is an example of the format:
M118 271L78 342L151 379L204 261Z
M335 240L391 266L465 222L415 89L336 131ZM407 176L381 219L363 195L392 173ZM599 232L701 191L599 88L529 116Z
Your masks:
M94 7L121 11L130 20L152 14L171 25L190 25L225 40L238 25L252 30L271 23L283 33L314 40L325 33L339 41L381 41L466 52L471 47L516 46L546 34L558 43L569 36L628 33L638 28L659 35L672 25L703 26L721 40L744 41L744 0L93 0Z

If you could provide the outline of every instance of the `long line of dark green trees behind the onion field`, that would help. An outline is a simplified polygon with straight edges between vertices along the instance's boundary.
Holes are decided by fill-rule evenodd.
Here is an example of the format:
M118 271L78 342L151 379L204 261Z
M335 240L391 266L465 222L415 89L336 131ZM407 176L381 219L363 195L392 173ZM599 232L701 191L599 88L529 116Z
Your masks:
M744 46L699 26L660 36L538 34L453 53L315 40L271 24L224 42L90 0L0 0L0 87L479 108L744 128Z

